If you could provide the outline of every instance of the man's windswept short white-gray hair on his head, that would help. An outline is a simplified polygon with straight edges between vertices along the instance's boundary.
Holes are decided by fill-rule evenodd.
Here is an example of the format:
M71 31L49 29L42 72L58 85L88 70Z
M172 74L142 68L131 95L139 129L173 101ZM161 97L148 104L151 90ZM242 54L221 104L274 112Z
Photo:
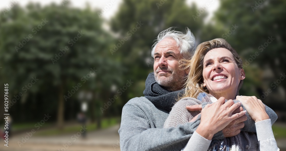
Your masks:
M182 32L178 32L174 30L174 27L170 27L159 33L155 43L152 46L151 55L154 58L155 48L161 40L164 38L172 38L176 41L177 47L180 50L180 54L182 54L184 59L190 59L192 57L192 53L195 50L195 37L190 31L189 28L186 27L186 34Z

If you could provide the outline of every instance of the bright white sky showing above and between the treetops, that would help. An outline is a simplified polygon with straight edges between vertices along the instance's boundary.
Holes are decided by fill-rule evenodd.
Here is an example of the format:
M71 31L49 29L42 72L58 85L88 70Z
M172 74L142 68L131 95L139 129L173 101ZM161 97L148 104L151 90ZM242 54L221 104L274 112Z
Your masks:
M62 0L8 0L8 1L1 1L0 3L0 9L3 8L9 8L10 6L13 7L13 1L17 1L21 6L26 6L30 1L40 3L41 5L47 5L51 2L61 4ZM72 3L73 7L80 7L84 8L86 7L86 3L89 3L91 8L99 8L104 9L106 8L107 11L103 13L103 17L106 19L110 19L116 11L118 11L118 7L122 0L63 0L63 1L70 1ZM163 1L163 0L161 0ZM166 0L165 0L166 1ZM195 2L199 8L206 8L206 10L209 12L209 15L206 20L209 20L213 16L213 12L218 9L219 7L219 1L218 0L186 0L187 4L190 5L192 2ZM158 0L160 2L160 0ZM209 3L210 5L206 5ZM108 8L109 4L109 8ZM107 9L108 8L108 9ZM202 10L201 10L202 11ZM2 13L2 12L0 12Z

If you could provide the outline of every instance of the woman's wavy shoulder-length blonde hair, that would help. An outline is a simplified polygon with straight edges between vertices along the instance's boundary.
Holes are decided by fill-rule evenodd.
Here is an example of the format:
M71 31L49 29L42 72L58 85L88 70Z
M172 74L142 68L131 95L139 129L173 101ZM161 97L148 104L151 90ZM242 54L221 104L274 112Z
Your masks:
M185 94L183 97L196 98L201 92L209 93L208 89L206 87L203 87L203 61L206 53L215 48L225 48L229 50L232 53L233 58L235 58L238 68L241 69L243 67L242 59L239 57L235 49L233 49L225 39L216 38L207 42L203 42L198 45L191 60L180 60L180 68L189 71L188 78L186 79L185 83ZM241 80L239 83L237 94L242 84L243 80Z

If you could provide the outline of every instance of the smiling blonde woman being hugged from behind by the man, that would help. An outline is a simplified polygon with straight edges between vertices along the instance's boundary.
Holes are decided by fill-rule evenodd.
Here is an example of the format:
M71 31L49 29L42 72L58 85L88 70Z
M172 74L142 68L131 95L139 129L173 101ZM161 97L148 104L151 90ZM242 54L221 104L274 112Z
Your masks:
M271 129L277 119L275 112L256 97L237 96L245 72L241 58L229 43L221 38L203 42L193 58L184 62L184 68L189 69L185 95L172 108L164 128L176 127L200 113L186 110L186 105L202 104L203 109L198 116L201 120L198 128L182 150L279 150ZM244 130L248 132L211 141L214 134L246 113L233 114L241 103L253 120L247 121L255 124L245 122ZM251 129L254 125L255 130Z

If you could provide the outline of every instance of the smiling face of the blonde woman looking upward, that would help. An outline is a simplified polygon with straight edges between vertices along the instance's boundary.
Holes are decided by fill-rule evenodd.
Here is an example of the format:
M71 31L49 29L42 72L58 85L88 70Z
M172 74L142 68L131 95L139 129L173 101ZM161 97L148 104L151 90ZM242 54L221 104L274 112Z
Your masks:
M202 76L204 87L210 94L236 94L239 82L245 78L231 52L225 48L215 48L204 56ZM231 98L229 98L231 99Z

